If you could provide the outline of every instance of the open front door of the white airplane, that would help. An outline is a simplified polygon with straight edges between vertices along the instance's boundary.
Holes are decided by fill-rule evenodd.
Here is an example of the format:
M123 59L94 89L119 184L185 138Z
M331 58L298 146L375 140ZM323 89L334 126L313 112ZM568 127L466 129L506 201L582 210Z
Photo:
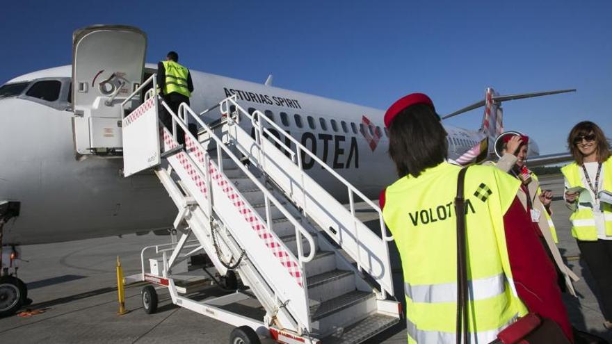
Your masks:
M88 26L72 35L74 147L78 154L122 152L121 103L143 81L147 35L132 26ZM127 113L140 104L134 97Z

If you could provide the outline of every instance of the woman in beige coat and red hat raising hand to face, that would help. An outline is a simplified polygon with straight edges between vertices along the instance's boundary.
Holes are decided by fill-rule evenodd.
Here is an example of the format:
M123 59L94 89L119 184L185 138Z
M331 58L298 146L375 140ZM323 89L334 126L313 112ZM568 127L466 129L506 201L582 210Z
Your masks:
M550 209L552 192L550 190L542 190L538 176L527 168L528 144L529 136L517 135L513 131L503 133L497 138L495 147L496 153L501 158L499 158L497 163L489 161L485 165L494 165L499 170L507 172L521 181L521 190L523 192L518 193L518 197L523 208L525 208L527 214L531 217L533 231L536 232L542 247L544 247L549 259L554 264L558 277L558 286L561 292L569 291L570 294L575 296L572 279L577 281L579 278L563 263L561 254L556 247L558 239L554 222L551 219L552 211Z

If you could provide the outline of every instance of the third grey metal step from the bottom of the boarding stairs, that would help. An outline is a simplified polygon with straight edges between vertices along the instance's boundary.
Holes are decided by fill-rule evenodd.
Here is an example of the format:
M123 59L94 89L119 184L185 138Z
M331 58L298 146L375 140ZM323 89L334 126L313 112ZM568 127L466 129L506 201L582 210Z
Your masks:
M355 273L347 270L332 270L308 277L308 298L325 302L355 290Z

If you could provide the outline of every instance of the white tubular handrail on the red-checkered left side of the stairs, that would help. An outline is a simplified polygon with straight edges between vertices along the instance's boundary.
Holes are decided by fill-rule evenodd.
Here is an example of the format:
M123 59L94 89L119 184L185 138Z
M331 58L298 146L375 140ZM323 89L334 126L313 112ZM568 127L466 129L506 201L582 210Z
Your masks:
M193 117L198 122L198 124L200 124L200 126L202 126L202 128L206 130L206 132L209 134L209 137L212 138L216 142L217 147L220 147L221 149L223 149L223 151L225 151L227 156L229 156L232 159L232 161L234 161L234 163L236 163L236 165L242 170L242 172L244 172L244 174L246 174L246 176L249 179L251 179L253 183L255 183L255 186L257 186L257 188L259 188L259 190L261 190L261 192L264 193L264 200L266 202L266 224L268 225L268 228L270 228L272 231L272 228L273 228L272 220L271 220L271 216L269 216L270 202L272 202L278 208L278 210L280 210L280 212L287 218L287 220L289 220L289 222L293 224L293 227L296 229L296 240L297 240L297 245L298 245L298 257L297 258L301 265L300 268L303 268L303 263L312 261L312 259L314 259L314 254L316 251L315 246L314 246L314 238L312 238L312 234L310 234L309 231L304 229L304 227L302 227L302 225L293 217L293 215L291 215L291 213L289 213L289 211L287 211L287 209L282 204L280 204L280 202L278 202L278 200L268 191L268 189L266 189L266 187L263 186L259 182L259 180L257 180L257 178L241 163L239 158L237 158L232 153L232 151L230 151L230 149L227 148L223 144L223 140L221 140L214 133L214 131L212 131L212 129L210 129L209 126L207 126L207 124L204 123L195 112L193 112L193 110L187 104L182 103L179 106L179 111L178 111L179 115L176 115L175 113L172 112L168 104L166 104L166 101L162 100L161 104L166 108L166 110L168 110L168 113L170 113L170 116L172 117L172 131L175 131L175 127L178 124L183 129L185 134L188 135L191 138L191 140L195 142L196 145L200 146L200 149L202 149L203 151L206 151L206 149L202 147L202 145L198 141L198 138L195 138L195 136L193 136L193 134L188 130L188 127L185 124L185 122L187 122L186 113L191 115L191 117ZM220 170L223 171L222 154L218 154L217 160L218 160L218 166ZM302 236L306 238L306 240L308 241L308 245L310 247L310 252L307 256L304 256ZM284 245L282 243L282 240L279 240L279 242L280 242L280 245ZM287 254L292 254L289 249L287 249Z

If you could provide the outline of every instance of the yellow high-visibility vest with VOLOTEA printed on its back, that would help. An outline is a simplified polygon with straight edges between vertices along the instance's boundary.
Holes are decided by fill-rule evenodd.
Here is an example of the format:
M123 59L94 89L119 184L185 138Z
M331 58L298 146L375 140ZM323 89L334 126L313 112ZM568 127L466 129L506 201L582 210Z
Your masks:
M401 256L408 343L456 340L457 261L454 199L460 167L441 163L385 192L383 217ZM465 177L469 331L490 343L527 313L506 248L504 214L520 181L495 167L469 167Z

